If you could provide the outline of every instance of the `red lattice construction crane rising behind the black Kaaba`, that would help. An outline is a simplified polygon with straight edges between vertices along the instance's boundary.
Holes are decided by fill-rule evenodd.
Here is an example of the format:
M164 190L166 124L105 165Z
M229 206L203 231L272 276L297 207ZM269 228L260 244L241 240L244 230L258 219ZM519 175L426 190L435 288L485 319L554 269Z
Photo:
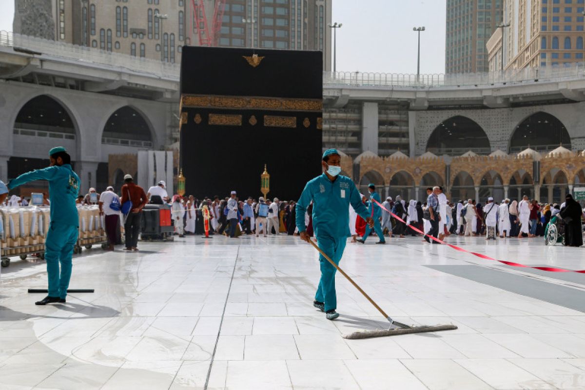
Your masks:
M205 15L204 0L191 0L191 26L189 37L192 42L193 34L199 37L199 46L217 46L221 34L221 25L223 22L223 11L225 10L226 0L215 0L214 18L211 20L211 29L208 26L207 16Z

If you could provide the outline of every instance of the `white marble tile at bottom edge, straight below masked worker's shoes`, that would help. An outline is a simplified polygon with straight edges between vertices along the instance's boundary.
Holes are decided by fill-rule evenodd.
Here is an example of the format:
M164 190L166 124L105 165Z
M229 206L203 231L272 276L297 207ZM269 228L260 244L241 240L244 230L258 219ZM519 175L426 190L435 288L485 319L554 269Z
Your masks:
M342 360L287 361L295 389L357 390L356 379Z

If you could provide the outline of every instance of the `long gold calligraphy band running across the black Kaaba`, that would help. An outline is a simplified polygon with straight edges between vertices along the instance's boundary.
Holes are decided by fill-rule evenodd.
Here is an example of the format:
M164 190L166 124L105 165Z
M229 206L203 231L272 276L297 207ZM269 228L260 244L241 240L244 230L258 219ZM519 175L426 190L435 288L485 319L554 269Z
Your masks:
M321 99L261 98L253 96L183 95L181 106L190 108L262 109L271 111L323 111Z

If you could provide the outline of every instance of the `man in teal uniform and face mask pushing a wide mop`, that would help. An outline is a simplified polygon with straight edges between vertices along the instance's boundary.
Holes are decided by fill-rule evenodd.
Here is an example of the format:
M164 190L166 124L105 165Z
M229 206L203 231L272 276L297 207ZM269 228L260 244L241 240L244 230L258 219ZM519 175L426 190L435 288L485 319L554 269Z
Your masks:
M324 173L309 181L302 191L296 209L296 223L301 239L311 240L305 226L305 213L313 203L313 229L317 237L317 244L322 251L339 264L345 249L349 232L349 204L371 226L366 206L357 191L356 185L349 177L340 175L341 157L335 149L326 150L321 161ZM335 292L336 269L323 256L321 262L321 280L315 294L313 305L326 313L329 320L336 319L337 295Z

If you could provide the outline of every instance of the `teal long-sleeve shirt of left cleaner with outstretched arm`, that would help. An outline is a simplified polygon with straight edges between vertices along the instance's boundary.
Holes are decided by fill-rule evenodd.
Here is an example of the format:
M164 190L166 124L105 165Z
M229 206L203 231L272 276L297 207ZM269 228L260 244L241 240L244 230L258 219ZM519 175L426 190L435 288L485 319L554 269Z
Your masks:
M29 181L49 181L49 199L51 201L51 222L79 226L75 199L79 194L79 177L69 164L44 168L23 173L8 183L13 189Z

